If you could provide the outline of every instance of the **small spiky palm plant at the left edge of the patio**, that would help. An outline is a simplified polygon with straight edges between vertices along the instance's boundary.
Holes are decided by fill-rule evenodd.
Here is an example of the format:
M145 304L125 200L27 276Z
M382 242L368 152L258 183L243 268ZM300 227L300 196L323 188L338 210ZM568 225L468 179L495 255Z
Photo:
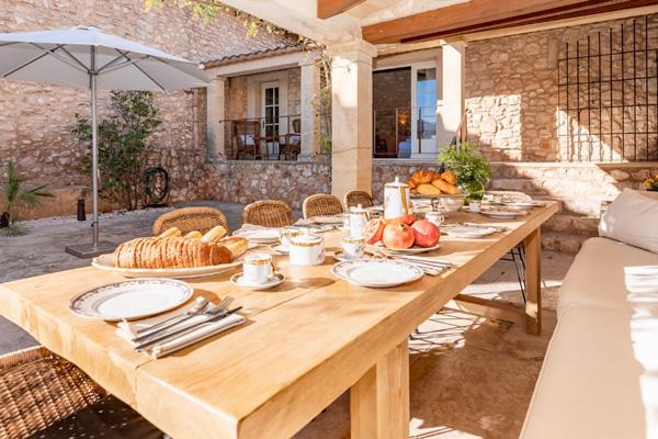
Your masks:
M41 203L44 196L53 196L46 191L47 184L41 184L30 190L23 189L27 179L16 172L12 161L7 165L7 178L0 181L0 201L2 201L2 214L0 214L0 227L9 227L15 223L14 210L19 204L25 207L34 207Z

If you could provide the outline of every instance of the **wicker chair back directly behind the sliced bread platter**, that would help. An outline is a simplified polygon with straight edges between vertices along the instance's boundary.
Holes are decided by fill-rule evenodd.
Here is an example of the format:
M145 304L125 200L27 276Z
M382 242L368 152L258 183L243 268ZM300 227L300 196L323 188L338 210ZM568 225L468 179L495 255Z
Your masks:
M213 207L183 207L167 212L154 223L154 236L171 227L178 227L183 234L198 230L202 234L211 228L222 225L228 230L226 216Z

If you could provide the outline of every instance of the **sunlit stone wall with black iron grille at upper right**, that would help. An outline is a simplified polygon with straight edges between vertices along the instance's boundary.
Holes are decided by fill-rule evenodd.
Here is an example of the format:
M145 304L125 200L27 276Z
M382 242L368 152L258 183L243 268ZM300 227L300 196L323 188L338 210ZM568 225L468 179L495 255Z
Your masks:
M616 136L614 136L615 138L610 136L598 138L595 136L599 126L597 125L598 112L592 113L591 121L587 113L581 113L583 117L588 117L587 122L583 119L578 127L575 112L570 111L568 115L566 114L565 88L561 88L563 95L558 100L558 66L561 68L563 82L566 75L566 64L559 63L558 59L565 57L565 44L569 43L569 56L574 57L576 43L580 41L580 56L585 56L587 55L587 45L582 42L587 42L589 35L592 45L597 46L593 52L598 52L597 38L598 33L601 32L603 34L601 53L605 54L610 52L608 31L613 29L613 38L615 38L613 52L620 52L619 31L622 23L626 29L624 48L631 50L633 40L628 30L633 27L633 19L470 42L466 49L466 108L469 139L479 143L481 149L492 160L499 161L555 161L590 158L595 160L599 157L598 148L602 149L604 158L622 158L619 153L620 139ZM640 30L644 29L644 18L637 19L637 26ZM657 26L658 16L650 15L650 38L654 37ZM642 32L638 33L635 44L638 48L644 47ZM594 63L595 58L592 59ZM604 65L609 60L609 58L603 58ZM656 58L649 57L648 63L649 72L655 72ZM644 55L638 55L636 70L639 77L644 76ZM598 67L592 66L591 74L588 76L583 65L585 61L580 69L576 69L576 63L570 61L570 82L576 82L577 70L579 70L581 82L599 79ZM632 56L626 55L625 65L625 75L628 78L633 69ZM613 57L613 77L619 79L622 75L621 55ZM603 79L606 79L608 71L609 69L605 68L602 70ZM643 82L638 81L637 85L637 102L640 103L644 102L645 95ZM610 105L610 90L606 87L605 83L602 86L603 105ZM619 83L613 87L615 87L613 101L619 105L622 102L621 87ZM655 104L656 85L649 83L649 90L653 95L650 103ZM594 88L593 94L588 97L583 86L580 87L580 90L574 86L570 89L569 100L571 109L576 106L575 100L578 99L576 98L578 91L581 106L588 106L588 102L591 106L598 106L598 89ZM626 105L631 104L632 94L633 85L629 82L626 83ZM645 120L643 114L646 115L646 113L643 113L644 109L640 106L636 109L640 122L638 131L643 131L643 121ZM628 108L625 115L627 132L633 131L633 127L628 126L631 113L633 110ZM610 121L611 117L612 121ZM621 132L622 117L621 111L615 111L612 115L603 111L601 115L603 126L608 127L612 122L615 132ZM585 146L588 148L587 158L586 156L569 156L565 147L566 143L558 142L558 122L561 124L560 134L568 135L571 143L578 142L579 138L581 143L587 142ZM655 131L656 116L654 114L650 114L649 124L649 128ZM588 136L588 133L593 135ZM650 142L655 142L655 139L654 136ZM635 142L637 142L638 149L644 153L642 148L645 145L646 136L636 138ZM590 149L592 149L591 157L589 156Z

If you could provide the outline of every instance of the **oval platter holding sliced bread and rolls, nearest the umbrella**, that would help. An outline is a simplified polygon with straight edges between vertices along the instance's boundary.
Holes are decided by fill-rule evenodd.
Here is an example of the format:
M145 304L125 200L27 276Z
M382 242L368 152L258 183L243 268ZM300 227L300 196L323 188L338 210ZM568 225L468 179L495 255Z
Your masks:
M171 227L158 236L127 240L113 254L93 258L91 264L126 278L197 278L239 266L248 246L246 238L227 237L223 226L205 234Z

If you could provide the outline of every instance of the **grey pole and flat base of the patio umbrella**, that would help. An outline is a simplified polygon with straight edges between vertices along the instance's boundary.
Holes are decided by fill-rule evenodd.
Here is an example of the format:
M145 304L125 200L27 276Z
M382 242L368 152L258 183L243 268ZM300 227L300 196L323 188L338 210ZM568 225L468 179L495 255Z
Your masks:
M95 71L95 47L91 47L91 68L89 70L89 88L91 91L91 203L93 218L91 221L91 244L67 246L66 252L78 258L93 258L94 256L114 251L114 243L99 240L99 121L97 114L97 75Z

